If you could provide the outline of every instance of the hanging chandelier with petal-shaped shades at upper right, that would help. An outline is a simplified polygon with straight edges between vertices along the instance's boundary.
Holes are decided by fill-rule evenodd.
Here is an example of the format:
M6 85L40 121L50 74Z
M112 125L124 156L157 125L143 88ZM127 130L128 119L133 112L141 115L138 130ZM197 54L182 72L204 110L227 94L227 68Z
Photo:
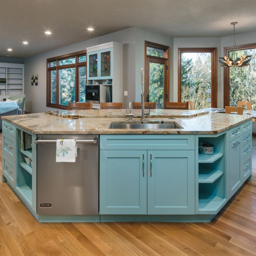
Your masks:
M232 22L231 25L234 25L234 44L233 44L233 53L232 58L229 58L227 56L219 57L219 63L221 63L222 67L245 67L248 66L251 60L251 55L243 55L242 57L237 57L237 51L235 50L235 25L238 22ZM233 61L235 59L235 61Z

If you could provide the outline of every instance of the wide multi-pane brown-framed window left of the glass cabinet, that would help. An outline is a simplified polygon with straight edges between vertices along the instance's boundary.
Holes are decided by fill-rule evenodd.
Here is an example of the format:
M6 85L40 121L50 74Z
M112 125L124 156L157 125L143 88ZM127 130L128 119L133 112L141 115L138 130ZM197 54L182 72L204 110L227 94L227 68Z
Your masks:
M47 107L85 102L86 51L47 59Z

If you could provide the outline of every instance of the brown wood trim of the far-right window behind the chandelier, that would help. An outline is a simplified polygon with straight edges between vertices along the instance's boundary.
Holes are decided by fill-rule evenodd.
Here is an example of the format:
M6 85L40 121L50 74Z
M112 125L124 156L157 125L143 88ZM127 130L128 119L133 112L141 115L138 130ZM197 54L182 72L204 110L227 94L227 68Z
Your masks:
M236 45L236 50L247 50L247 49L253 49L256 48L256 43L248 43L246 45ZM224 55L223 56L229 56L230 51L233 50L233 46L224 47ZM232 68L232 67L231 67ZM223 67L223 106L229 106L229 67Z

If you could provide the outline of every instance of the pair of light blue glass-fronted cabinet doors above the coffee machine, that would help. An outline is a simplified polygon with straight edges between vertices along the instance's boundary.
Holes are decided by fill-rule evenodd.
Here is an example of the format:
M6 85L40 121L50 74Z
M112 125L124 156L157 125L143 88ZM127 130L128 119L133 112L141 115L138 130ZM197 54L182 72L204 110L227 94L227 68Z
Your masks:
M113 49L92 51L87 54L87 79L112 79L113 70Z

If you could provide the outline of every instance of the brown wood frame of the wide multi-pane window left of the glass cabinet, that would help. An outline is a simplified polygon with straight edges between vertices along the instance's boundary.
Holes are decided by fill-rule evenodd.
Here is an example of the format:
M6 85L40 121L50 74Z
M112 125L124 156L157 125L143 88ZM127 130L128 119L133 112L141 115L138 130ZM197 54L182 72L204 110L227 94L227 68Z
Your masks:
M56 109L67 109L66 105L59 104L59 70L61 69L67 69L67 68L75 68L75 102L79 101L79 76L78 76L78 70L81 66L86 66L86 62L78 62L79 57L85 56L85 51L77 51L75 53L71 54L65 54L57 57L48 58L46 60L46 70L47 70L47 79L46 79L46 106L47 107L53 107ZM59 65L58 62L63 59L69 59L69 58L75 58L74 64L67 64L67 65ZM56 66L51 67L51 62L56 61ZM51 71L56 70L56 104L51 103ZM86 78L87 81L87 78Z

